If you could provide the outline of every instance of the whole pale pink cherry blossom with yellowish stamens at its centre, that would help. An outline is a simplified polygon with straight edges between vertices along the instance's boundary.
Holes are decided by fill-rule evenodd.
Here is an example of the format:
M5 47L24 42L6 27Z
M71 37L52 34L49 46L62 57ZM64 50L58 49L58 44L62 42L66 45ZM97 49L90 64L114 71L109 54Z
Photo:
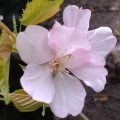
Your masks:
M74 9L71 11L73 16L66 16L70 9ZM70 17L77 22L69 21ZM56 22L48 31L30 25L17 36L16 48L21 59L28 64L20 80L23 89L34 100L49 104L52 112L60 118L81 113L86 92L80 80L97 92L103 90L106 83L107 70L102 53L110 51L112 45L104 52L100 46L104 40L107 44L109 37L113 41L116 39L107 29L103 36L99 29L88 32L89 18L89 10L68 6L64 11L63 26ZM101 37L97 36L98 33Z

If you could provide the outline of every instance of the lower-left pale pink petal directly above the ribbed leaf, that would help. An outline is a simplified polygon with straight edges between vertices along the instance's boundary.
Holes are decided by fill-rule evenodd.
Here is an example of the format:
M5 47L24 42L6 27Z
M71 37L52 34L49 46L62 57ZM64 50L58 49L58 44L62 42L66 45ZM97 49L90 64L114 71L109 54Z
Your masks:
M53 99L55 88L49 68L29 64L21 77L21 85L34 100L50 103Z

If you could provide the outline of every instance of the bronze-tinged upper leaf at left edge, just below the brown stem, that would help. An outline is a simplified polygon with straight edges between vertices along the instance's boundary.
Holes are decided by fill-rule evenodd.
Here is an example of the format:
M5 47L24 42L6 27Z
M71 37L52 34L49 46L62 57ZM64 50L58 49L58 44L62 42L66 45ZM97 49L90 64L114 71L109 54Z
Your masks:
M12 51L13 42L11 37L3 31L0 38L0 66L4 65L9 59Z

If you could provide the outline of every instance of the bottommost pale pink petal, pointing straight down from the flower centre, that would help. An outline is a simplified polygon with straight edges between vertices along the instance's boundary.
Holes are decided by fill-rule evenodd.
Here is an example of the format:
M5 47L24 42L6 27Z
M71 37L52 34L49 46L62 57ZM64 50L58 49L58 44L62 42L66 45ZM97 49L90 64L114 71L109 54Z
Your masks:
M86 92L78 79L64 73L62 75L58 73L54 78L55 95L50 108L60 118L68 114L76 116L83 109Z

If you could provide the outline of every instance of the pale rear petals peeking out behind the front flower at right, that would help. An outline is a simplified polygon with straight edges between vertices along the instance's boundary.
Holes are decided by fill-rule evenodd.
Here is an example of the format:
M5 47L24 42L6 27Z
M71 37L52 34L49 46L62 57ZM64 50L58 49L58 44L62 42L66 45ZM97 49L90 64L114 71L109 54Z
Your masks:
M109 27L100 27L95 30L88 30L91 11L88 9L78 8L75 5L69 5L63 12L64 25L67 27L75 27L79 31L86 34L91 44L91 51L101 57L105 57L115 46L117 40L113 36ZM59 23L57 23L59 24ZM92 81L84 81L86 85L99 92L104 88L106 79L98 79Z

